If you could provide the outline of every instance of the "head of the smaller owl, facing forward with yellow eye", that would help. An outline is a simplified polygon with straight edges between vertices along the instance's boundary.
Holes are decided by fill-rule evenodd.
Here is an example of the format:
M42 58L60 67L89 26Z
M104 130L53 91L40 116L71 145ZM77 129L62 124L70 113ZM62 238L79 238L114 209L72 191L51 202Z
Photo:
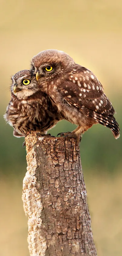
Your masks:
M39 90L35 76L30 70L21 70L12 76L11 93L18 99L26 99Z

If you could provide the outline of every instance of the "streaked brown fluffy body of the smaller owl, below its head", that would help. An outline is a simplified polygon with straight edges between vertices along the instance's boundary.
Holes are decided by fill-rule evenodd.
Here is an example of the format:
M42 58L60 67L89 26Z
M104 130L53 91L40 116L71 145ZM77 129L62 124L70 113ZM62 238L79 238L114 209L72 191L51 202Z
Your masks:
M20 135L28 131L45 133L61 120L43 92L41 95L37 92L24 100L12 95L4 117Z

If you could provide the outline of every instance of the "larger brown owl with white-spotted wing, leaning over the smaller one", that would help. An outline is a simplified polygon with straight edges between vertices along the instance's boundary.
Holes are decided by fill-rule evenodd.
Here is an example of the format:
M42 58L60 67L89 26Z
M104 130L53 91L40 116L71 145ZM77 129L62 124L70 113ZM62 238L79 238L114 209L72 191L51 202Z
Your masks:
M82 133L93 124L100 123L110 128L116 139L119 138L115 110L104 94L103 86L90 70L58 50L38 53L32 58L31 70L39 87L48 94L61 116L78 125L72 134L65 135L79 141Z

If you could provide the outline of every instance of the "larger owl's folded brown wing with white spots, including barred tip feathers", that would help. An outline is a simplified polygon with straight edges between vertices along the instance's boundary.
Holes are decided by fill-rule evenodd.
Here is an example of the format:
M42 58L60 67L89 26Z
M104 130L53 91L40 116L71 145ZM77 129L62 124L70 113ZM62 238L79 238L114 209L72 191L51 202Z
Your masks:
M58 92L70 106L113 131L116 128L118 132L118 124L113 117L115 110L104 94L103 86L90 70L78 65L74 73L60 85Z

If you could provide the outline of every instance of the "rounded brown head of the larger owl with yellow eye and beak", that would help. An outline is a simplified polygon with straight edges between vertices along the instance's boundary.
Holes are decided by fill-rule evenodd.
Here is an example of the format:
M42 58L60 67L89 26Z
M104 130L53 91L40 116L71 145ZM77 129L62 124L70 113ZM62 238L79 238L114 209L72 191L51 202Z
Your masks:
M45 50L32 58L31 70L41 81L66 77L74 67L74 60L65 52Z

